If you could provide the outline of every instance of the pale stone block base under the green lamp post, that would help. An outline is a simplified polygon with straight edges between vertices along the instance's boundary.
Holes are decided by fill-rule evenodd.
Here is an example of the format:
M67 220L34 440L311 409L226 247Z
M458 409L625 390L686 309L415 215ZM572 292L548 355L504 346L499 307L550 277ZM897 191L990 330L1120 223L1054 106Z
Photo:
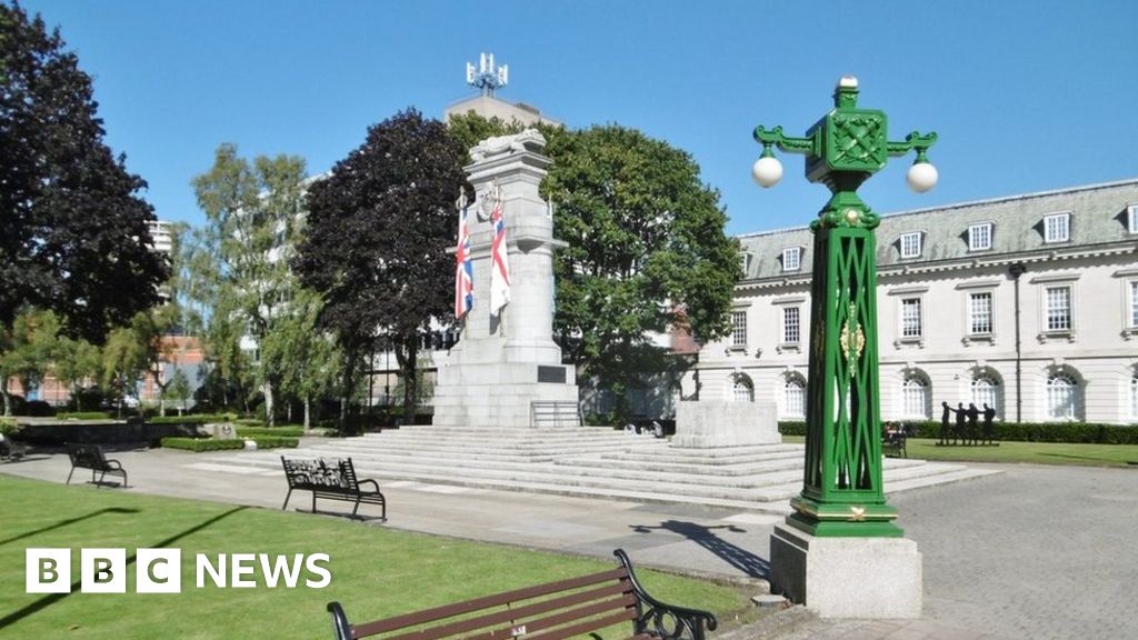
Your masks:
M770 534L770 591L820 617L921 617L922 580L906 538L816 538L784 525Z

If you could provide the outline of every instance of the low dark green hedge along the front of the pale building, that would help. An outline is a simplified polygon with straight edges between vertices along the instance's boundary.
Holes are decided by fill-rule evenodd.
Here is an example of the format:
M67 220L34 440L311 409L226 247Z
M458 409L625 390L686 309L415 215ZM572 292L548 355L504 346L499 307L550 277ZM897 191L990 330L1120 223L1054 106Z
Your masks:
M905 421L916 429L917 437L939 437L940 422ZM955 428L955 422L950 425ZM1073 444L1138 444L1138 425L1104 425L1097 422L993 422L996 440L1006 442L1063 442ZM980 425L983 429L983 424ZM778 422L783 435L806 435L806 422Z

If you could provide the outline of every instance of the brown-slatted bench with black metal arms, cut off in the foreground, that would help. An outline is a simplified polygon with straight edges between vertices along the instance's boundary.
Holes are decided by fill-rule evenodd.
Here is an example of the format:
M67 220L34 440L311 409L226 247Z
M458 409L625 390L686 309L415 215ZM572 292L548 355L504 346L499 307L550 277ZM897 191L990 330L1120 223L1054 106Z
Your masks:
M715 631L708 612L666 605L649 596L621 549L620 567L423 609L364 624L351 624L339 602L329 602L336 640L386 634L388 640L561 640L632 623L632 638L703 640ZM595 638L595 635L594 635Z

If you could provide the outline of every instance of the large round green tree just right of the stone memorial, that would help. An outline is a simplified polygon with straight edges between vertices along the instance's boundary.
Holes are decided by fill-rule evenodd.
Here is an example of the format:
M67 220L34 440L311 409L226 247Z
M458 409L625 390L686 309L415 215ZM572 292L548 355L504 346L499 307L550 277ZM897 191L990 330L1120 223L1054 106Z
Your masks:
M685 151L610 124L550 140L542 184L554 207L558 252L554 328L564 354L616 396L677 366L651 334L691 331L699 342L729 330L737 243L716 190Z

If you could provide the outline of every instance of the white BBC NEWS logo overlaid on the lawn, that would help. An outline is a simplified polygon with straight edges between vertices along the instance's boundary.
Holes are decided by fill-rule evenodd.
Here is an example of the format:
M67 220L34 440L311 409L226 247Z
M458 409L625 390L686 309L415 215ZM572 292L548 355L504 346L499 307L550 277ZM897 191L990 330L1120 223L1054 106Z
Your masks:
M195 586L212 583L221 589L253 589L259 574L265 586L323 589L332 583L328 553L206 553L195 556ZM84 593L126 593L126 549L81 549L80 591ZM138 593L181 593L181 549L137 549L134 591ZM27 549L24 566L28 593L71 593L72 550ZM304 579L302 581L302 577Z

